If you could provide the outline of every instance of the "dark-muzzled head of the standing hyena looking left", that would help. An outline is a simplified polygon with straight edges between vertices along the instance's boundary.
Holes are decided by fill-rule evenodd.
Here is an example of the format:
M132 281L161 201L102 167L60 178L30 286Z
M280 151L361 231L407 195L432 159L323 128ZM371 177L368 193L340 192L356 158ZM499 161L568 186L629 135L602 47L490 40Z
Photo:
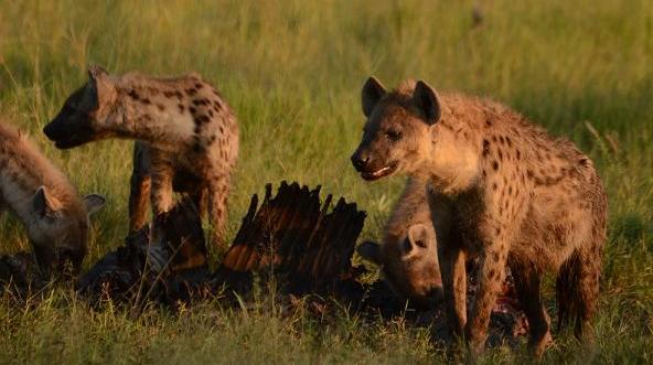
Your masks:
M108 138L105 128L116 112L117 92L110 76L99 66L88 67L88 82L64 103L43 132L60 149Z

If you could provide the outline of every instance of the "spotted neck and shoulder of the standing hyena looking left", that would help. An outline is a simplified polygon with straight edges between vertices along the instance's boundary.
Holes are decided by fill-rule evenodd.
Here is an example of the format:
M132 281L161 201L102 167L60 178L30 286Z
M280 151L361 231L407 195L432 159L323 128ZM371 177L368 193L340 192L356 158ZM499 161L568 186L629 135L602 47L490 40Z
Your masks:
M127 76L124 76L127 77ZM161 149L178 150L193 138L193 119L184 90L193 80L159 80L130 76L116 84L117 110L107 129L121 138L138 139Z

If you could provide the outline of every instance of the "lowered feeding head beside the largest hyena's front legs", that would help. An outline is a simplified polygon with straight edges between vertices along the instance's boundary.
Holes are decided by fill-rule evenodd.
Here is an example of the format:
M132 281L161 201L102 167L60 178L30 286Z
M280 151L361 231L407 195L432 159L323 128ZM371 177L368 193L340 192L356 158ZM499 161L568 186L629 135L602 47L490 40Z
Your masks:
M442 300L438 247L431 226L413 225L402 239L386 239L383 245L363 243L356 251L381 267L384 279L397 296L418 305Z

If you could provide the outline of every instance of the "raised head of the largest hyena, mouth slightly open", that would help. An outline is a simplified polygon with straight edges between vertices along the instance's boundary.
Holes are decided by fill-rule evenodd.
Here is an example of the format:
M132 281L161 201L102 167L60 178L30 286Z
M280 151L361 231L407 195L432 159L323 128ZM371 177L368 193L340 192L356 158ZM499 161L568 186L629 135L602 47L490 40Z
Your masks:
M440 119L440 103L425 82L394 92L370 77L363 86L363 112L367 118L352 163L365 180L397 172L411 174L430 158L430 127Z

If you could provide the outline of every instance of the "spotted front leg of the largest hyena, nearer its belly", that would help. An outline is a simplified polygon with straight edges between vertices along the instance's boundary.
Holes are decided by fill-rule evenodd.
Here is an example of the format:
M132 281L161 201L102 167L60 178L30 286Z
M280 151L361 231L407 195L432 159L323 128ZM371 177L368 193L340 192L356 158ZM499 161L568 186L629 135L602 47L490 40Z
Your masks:
M477 294L464 331L465 340L473 354L480 354L485 346L490 314L496 302L496 294L505 275L510 247L507 237L511 237L505 229L505 225L493 225L485 232L492 232L492 234L483 243L483 251L479 262Z

